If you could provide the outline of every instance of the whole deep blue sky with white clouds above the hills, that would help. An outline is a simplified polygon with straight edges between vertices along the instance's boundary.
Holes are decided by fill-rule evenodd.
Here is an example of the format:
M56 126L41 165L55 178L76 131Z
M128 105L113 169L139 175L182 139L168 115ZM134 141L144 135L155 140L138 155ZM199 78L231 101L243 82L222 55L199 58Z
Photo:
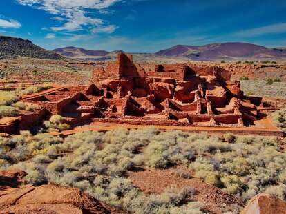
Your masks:
M0 35L52 50L155 52L242 41L286 46L285 0L1 0Z

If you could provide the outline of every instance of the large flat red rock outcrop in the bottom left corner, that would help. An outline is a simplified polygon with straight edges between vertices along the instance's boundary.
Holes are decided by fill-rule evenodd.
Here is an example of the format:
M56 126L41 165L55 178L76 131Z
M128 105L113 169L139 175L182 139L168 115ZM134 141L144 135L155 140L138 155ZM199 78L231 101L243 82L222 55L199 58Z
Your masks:
M0 171L0 213L121 213L77 188L20 186L23 171Z

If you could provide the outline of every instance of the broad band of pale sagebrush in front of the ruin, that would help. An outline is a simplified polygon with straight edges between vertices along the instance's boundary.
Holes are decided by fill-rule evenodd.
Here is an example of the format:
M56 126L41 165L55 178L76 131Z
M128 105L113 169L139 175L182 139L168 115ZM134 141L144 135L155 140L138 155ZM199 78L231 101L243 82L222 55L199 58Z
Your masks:
M245 201L265 191L281 198L286 193L283 142L267 137L231 133L216 137L149 128L78 133L64 140L23 132L0 142L1 168L23 169L28 173L26 183L74 186L131 213L184 213L196 204L192 188L144 195L125 176L135 167L183 165L207 184ZM175 175L191 178L180 170ZM205 212L201 205L195 210Z

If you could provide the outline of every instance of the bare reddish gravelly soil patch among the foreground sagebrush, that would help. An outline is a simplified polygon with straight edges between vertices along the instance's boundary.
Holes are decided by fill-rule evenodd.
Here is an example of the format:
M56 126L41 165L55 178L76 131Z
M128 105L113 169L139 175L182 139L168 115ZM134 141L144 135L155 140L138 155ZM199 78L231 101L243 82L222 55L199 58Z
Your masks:
M211 213L223 213L223 207L229 208L233 205L243 205L237 197L224 193L220 188L206 184L202 179L178 177L178 175L175 175L175 170L176 168L164 170L146 169L144 171L130 172L128 178L131 179L134 186L137 186L145 193L162 193L171 186L177 188L193 187L197 191L195 199L205 204L205 208L211 211ZM189 173L189 175L192 174L187 169L184 169L184 171Z

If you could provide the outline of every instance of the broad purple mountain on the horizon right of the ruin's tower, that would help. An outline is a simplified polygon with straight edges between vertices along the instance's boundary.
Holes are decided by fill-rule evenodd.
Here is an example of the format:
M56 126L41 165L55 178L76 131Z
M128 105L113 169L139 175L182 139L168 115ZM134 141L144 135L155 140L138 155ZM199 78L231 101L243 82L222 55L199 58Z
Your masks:
M204 46L178 45L160 50L155 55L185 57L191 60L221 59L286 59L285 48L266 48L251 43L213 43Z

